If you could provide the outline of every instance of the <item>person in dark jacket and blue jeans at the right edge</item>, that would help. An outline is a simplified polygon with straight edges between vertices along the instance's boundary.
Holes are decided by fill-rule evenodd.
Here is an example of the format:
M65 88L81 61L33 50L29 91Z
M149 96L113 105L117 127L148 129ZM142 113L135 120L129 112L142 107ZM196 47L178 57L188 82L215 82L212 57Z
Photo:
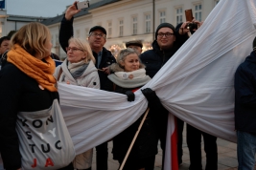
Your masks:
M253 51L235 74L235 128L238 169L254 169L256 155L256 37Z

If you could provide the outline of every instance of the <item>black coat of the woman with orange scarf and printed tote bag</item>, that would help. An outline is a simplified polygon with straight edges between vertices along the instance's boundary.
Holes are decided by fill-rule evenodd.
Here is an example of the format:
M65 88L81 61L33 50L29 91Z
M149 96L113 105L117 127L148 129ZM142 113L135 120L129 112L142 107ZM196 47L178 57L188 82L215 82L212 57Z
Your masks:
M41 90L34 78L7 62L0 72L0 153L5 169L21 167L15 130L18 112L49 109L58 92Z

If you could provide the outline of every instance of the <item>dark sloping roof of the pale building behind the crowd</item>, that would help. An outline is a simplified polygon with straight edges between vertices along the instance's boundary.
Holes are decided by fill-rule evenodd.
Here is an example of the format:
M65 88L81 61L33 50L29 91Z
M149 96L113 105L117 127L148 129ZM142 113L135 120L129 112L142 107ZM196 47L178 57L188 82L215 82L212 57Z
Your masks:
M88 9L83 9L79 13L74 15L74 18L89 14L89 10L97 9L97 8L100 8L100 7L103 7L105 5L112 4L112 3L115 3L115 2L118 2L118 1L121 1L121 0L104 0L104 1L94 3L94 4L90 5L90 7ZM58 15L56 17L46 19L46 20L42 21L41 23L46 25L46 26L57 24L57 23L61 22L63 16L64 16L64 13L61 14L61 15Z

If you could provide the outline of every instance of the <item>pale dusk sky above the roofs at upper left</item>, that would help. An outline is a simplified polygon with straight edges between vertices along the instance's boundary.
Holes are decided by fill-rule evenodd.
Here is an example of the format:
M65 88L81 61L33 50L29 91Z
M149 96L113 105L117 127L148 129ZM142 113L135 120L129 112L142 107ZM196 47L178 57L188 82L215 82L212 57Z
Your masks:
M54 17L75 0L6 0L8 14Z

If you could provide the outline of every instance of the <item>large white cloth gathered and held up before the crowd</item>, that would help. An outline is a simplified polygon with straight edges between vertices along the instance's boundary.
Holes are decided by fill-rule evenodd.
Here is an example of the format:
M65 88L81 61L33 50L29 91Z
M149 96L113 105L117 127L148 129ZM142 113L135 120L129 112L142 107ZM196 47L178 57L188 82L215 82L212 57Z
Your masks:
M221 0L145 85L176 117L234 142L234 73L252 51L255 5L256 0ZM135 93L133 102L124 95L72 85L58 84L58 92L77 154L122 132L148 104L141 91Z

